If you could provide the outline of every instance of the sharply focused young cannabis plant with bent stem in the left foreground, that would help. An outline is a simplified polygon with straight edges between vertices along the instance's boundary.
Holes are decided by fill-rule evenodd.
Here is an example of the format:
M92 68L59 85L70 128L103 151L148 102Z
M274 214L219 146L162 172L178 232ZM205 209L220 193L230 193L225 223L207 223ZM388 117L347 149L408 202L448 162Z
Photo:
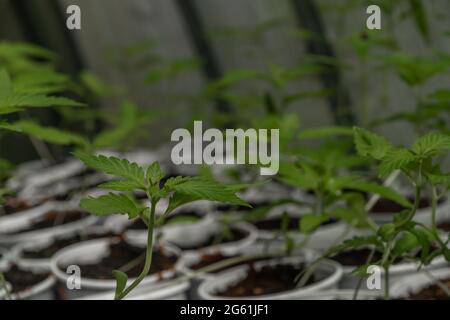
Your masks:
M174 209L197 200L249 206L235 194L242 187L239 185L223 185L201 177L178 176L164 181L165 175L157 162L145 169L126 159L80 152L75 155L88 167L119 178L117 181L103 183L99 187L120 193L109 193L99 198L85 198L80 202L81 208L99 216L127 214L129 219L142 219L148 227L145 264L141 274L127 287L128 276L121 271L113 271L117 281L115 294L117 300L126 297L148 275L152 263L155 226L160 225ZM136 190L147 194L149 207L142 206L126 194ZM164 198L169 199L168 207L162 216L157 217L156 205Z

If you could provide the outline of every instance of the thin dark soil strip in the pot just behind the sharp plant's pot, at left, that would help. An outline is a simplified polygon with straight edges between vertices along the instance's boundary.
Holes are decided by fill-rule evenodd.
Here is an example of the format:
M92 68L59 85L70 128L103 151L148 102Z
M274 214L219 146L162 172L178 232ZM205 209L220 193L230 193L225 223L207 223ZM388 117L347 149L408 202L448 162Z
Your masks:
M51 242L49 246L38 250L26 249L21 253L23 259L50 259L59 250L82 241L100 239L114 236L112 233L89 233L77 234L69 238L58 238Z

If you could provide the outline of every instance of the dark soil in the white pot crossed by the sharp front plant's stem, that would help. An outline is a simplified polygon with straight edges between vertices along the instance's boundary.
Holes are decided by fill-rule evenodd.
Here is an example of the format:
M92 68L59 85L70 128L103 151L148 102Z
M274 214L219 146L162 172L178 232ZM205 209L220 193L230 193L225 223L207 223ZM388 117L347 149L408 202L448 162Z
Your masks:
M125 241L112 243L109 246L109 254L101 261L93 264L80 264L81 274L89 279L111 280L114 279L113 270L121 270L128 277L139 276L144 268L145 248L135 247ZM169 255L163 249L153 251L150 274L171 270L177 261L177 257ZM124 266L130 266L124 268ZM65 270L65 268L63 268Z

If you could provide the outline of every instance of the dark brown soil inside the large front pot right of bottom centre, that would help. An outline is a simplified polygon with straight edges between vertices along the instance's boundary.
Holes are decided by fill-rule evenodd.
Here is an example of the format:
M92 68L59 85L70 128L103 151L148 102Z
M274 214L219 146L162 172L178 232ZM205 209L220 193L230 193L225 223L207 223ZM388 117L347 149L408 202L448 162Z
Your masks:
M256 270L250 266L247 276L217 294L222 297L255 297L293 290L295 279L304 270L303 264L278 264ZM307 285L315 282L312 276Z

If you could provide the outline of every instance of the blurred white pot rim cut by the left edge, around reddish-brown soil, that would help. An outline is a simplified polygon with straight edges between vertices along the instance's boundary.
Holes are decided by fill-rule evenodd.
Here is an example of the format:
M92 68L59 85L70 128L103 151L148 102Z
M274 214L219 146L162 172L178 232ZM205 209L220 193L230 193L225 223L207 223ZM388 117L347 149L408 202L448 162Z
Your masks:
M70 203L46 202L43 205L20 213L6 216L0 219L0 245L12 246L21 242L34 242L39 239L57 237L64 234L73 233L92 226L98 221L93 215L67 224L61 224L52 228L39 229L35 231L20 232L33 224L33 221L43 217L50 211L79 210ZM15 233L7 233L17 231Z

